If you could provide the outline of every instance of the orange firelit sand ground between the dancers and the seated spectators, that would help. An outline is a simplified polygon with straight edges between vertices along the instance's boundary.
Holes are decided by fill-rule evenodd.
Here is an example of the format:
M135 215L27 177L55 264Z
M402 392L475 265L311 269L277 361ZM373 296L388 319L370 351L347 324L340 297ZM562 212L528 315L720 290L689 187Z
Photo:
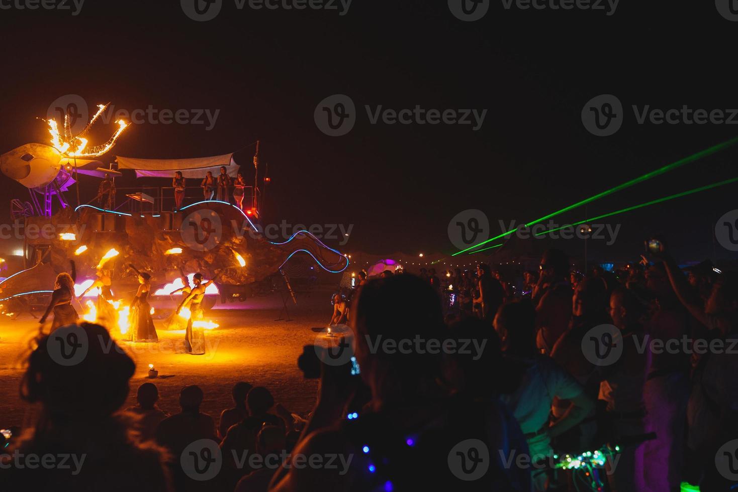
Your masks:
M314 326L325 326L331 317L331 288L316 287L297 294L297 306L289 303L292 321L279 317L279 295L230 303L210 311L207 319L220 324L206 331L207 354L178 354L184 332L165 331L163 320L155 320L158 343L123 345L136 362L131 392L126 406L135 404L136 389L142 382L159 387L159 407L165 412L179 411L179 390L198 384L204 390L201 411L218 418L221 410L232 406L230 390L238 381L265 386L275 401L292 412L306 415L315 402L317 381L303 379L297 356L303 345L310 345L317 334ZM167 302L152 302L156 312L172 309ZM0 428L27 426L35 421L38 408L21 401L18 387L24 370L30 340L38 333L38 321L30 315L0 321ZM159 370L157 379L148 379L148 365Z

